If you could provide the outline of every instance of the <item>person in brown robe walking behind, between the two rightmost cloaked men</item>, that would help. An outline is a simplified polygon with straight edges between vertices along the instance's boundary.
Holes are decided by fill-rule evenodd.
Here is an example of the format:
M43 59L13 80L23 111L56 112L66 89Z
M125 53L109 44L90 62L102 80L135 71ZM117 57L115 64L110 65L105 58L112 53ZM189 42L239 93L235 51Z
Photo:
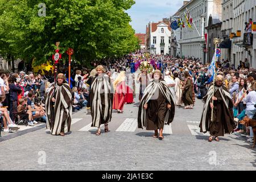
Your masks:
M189 76L189 73L186 71L184 73L185 81L183 82L183 93L182 101L185 105L184 109L193 109L195 104L195 92L192 78Z

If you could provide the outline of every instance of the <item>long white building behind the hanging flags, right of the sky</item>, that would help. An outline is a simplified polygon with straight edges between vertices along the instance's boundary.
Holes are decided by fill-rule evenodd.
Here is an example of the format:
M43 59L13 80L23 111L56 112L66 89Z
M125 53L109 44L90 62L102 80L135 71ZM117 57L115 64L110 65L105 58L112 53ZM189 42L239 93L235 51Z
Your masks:
M189 13L193 19L192 28L187 26L184 18L185 13ZM199 58L201 61L208 62L205 27L208 26L209 16L213 19L221 20L221 0L191 0L184 1L183 6L175 15L181 17L185 23L185 28L177 29L176 34L180 34L180 55L184 57ZM196 28L197 30L196 30Z

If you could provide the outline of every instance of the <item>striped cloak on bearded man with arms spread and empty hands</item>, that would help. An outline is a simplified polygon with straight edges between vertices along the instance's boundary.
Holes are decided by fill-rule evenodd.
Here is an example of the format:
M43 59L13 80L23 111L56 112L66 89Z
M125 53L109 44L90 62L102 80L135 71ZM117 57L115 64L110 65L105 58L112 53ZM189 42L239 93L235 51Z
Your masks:
M156 89L159 89L158 91ZM142 100L139 104L139 112L138 112L138 128L143 129L147 125L147 110L144 109L144 104L147 104L150 101L151 97L155 92L162 92L164 98L168 103L171 104L171 109L166 108L168 111L166 112L166 117L164 118L165 125L169 125L174 120L175 114L175 104L174 104L174 96L170 89L168 88L166 81L162 80L160 82L152 81L147 88L144 90Z

